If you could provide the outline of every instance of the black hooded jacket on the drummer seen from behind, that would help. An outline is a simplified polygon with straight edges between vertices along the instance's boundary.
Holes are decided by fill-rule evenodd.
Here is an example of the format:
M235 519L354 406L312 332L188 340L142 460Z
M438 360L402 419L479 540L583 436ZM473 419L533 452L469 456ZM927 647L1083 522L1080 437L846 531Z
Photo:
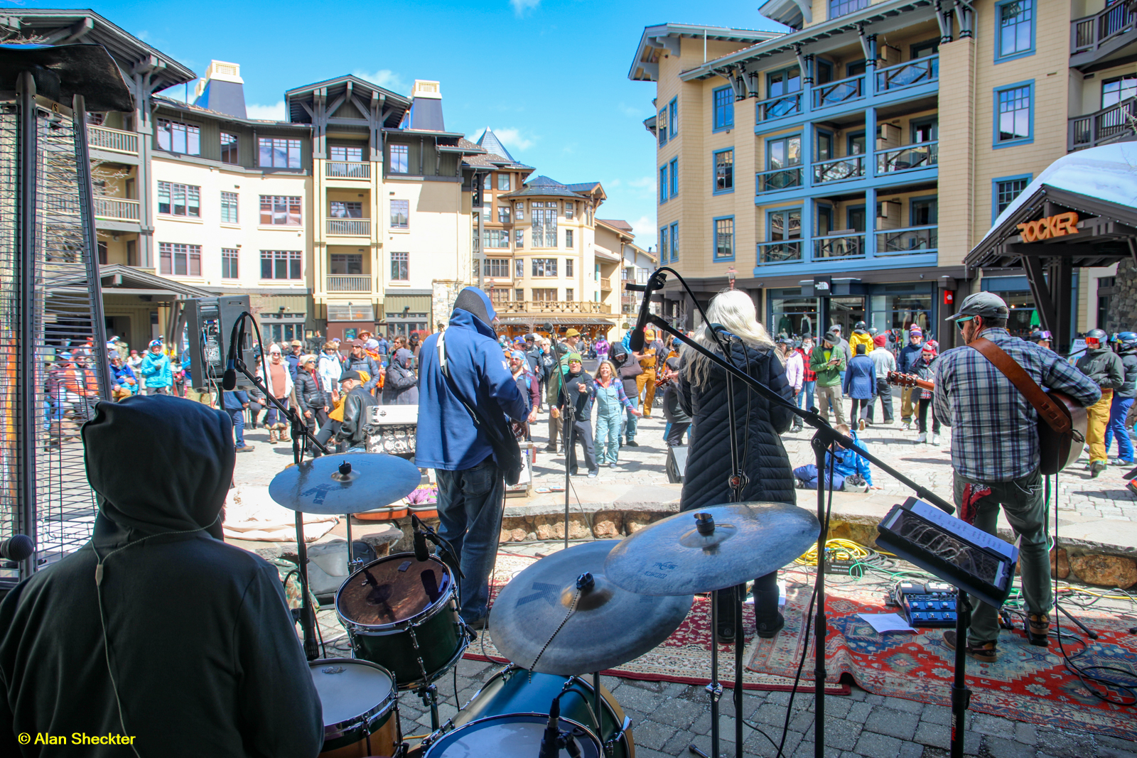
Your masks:
M123 734L101 613L125 733L140 755L315 756L319 697L276 569L221 539L234 460L229 416L166 395L100 402L83 445L99 502L91 542L0 603L0 755L133 755L16 741L23 732ZM140 481L140 470L155 475Z

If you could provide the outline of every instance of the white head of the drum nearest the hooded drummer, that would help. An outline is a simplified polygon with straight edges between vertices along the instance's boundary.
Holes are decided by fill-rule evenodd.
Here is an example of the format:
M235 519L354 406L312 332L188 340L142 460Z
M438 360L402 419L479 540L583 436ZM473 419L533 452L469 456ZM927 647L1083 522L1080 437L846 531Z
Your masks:
M346 727L380 713L395 691L382 666L351 658L310 660L312 682L324 708L324 727Z

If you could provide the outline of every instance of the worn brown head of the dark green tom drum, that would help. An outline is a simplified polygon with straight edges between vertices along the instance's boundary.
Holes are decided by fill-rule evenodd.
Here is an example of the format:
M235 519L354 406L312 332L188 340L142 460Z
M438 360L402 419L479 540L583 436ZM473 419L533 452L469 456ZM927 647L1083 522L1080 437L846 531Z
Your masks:
M400 552L373 561L348 577L335 594L335 609L360 626L384 626L417 616L446 597L450 572L431 558Z

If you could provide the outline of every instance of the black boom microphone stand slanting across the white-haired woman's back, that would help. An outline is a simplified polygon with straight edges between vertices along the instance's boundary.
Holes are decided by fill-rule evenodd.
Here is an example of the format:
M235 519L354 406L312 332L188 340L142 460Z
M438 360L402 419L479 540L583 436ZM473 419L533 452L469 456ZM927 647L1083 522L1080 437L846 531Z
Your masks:
M695 302L696 307L699 308L699 313L703 313L703 308L698 306L698 300L695 298L695 294L691 292L690 288L687 285L687 282L679 274L679 272L677 272L675 269L670 268L670 267L663 267L663 268L656 269L656 272L655 272L655 274L653 274L653 276L659 276L662 278L665 275L664 272L671 272L672 274L675 275L675 277L679 280L679 282L687 290L688 294L691 298L691 301ZM706 314L703 314L703 318L709 325L711 320L708 318L706 318ZM855 443L853 441L853 438L846 436L846 435L841 434L840 432L838 432L837 430L835 430L832 426L829 425L829 422L821 416L821 414L819 414L819 413L816 413L814 410L803 410L803 409L798 408L795 403L790 402L789 400L786 400L780 394L778 394L777 392L774 392L773 390L771 390L769 386L766 386L764 383L762 383L758 380L754 378L753 376L750 376L746 372L739 369L732 363L729 363L728 360L725 360L722 356L715 355L714 352L712 352L711 350L707 350L706 348L704 348L702 344L699 344L695 340L686 336L682 332L675 330L674 327L671 326L671 324L669 324L664 319L659 318L658 316L649 315L648 316L648 320L653 325L655 325L658 328L663 330L667 334L671 334L677 340L679 340L683 344L690 347L692 350L695 350L696 352L698 352L700 356L707 358L708 360L711 360L711 363L715 364L716 366L719 366L720 368L722 368L723 370L725 370L727 374L728 374L728 376L735 376L735 377L741 380L742 382L745 382L747 386L749 386L755 392L757 392L762 398L764 398L772 406L780 406L780 407L785 408L786 410L790 411L791 414L794 414L795 416L797 416L798 418L800 418L804 423L808 424L810 426L812 426L815 430L813 439L811 440L810 444L813 448L814 455L816 457L816 466L818 466L818 520L821 523L821 532L818 534L818 581L816 581L818 600L816 600L816 615L815 615L815 620L814 620L815 641L814 641L814 670L813 670L813 675L814 675L814 691L813 692L814 692L814 711L815 711L815 717L814 717L814 736L813 736L814 742L813 742L813 744L814 744L814 755L815 755L815 758L824 758L824 751L825 751L825 741L824 741L824 736L825 736L825 692L824 692L824 690L825 690L825 676L827 676L827 670L825 670L825 633L827 633L827 630L825 630L825 594L824 594L824 591L825 591L825 580L824 580L824 576L825 576L825 541L827 541L827 536L828 536L828 518L827 518L827 513L825 513L825 491L822 489L821 483L824 481L825 451L829 449L830 445L832 445L833 443L837 443L837 444L839 444L839 445L841 445L844 448L847 448L847 449L854 451L858 456L862 456L863 458L865 458L870 463L875 464L880 469L882 469L887 474L891 475L894 478L898 480L899 482L903 482L904 484L906 484L911 490L913 490L920 497L920 499L924 500L926 502L928 502L928 503L930 503L932 506L936 506L937 508L939 508L940 510L943 510L943 511L945 511L947 514L954 514L955 513L955 507L952 506L951 503L946 502L943 498L940 498L939 495L937 495L935 492L932 492L928 488L922 486L920 484L916 484L915 482L913 482L912 480L910 480L907 476L904 476L898 470L896 470L895 468L893 468L891 466L889 466L888 464L886 464L885 461L882 461L880 458L878 458L877 456L872 455L871 452L869 452L868 450L865 450L864 448L862 448L861 445L858 445L857 443ZM708 328L709 328L709 326L708 326ZM712 334L714 334L713 330L712 330ZM719 341L717 338L715 338L715 341L719 342L720 347L722 345L722 343ZM814 348L814 349L816 349L816 348ZM723 350L723 356L729 356L729 353L725 350ZM829 486L832 488L832 481L830 481ZM714 605L712 605L712 615L714 615ZM717 659L717 656L715 656L713 653L715 652L716 649L717 649L716 645L712 647L712 659L715 660L715 661ZM740 673L739 669L736 667L736 682L735 682L735 688L736 689L739 689L742 685L742 683L740 681L740 677L738 677L739 673ZM717 672L714 672L714 674L717 674ZM736 702L737 701L738 701L738 697L736 695ZM713 706L714 706L714 701L712 701L712 707ZM717 710L717 708L713 707L713 710ZM741 719L741 711L736 713L735 717L736 717L736 719L739 719L736 723L736 726L739 726L741 724L741 720L740 720ZM719 730L717 730L715 723L712 722L712 744L711 744L711 749L712 749L712 752L714 755L714 758L719 758L719 745L716 744L716 740L714 739L715 735L717 734L717 732L719 732ZM735 747L736 747L736 750L738 751L738 753L741 755L741 749L742 749L741 741L736 742Z

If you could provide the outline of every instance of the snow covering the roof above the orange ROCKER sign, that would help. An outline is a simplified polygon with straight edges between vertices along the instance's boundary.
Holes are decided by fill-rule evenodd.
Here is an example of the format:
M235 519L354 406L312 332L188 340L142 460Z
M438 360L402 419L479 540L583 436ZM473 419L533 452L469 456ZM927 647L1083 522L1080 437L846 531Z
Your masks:
M1103 144L1059 158L1011 201L984 239L990 236L1007 216L1044 184L1119 206L1137 206L1137 142Z

